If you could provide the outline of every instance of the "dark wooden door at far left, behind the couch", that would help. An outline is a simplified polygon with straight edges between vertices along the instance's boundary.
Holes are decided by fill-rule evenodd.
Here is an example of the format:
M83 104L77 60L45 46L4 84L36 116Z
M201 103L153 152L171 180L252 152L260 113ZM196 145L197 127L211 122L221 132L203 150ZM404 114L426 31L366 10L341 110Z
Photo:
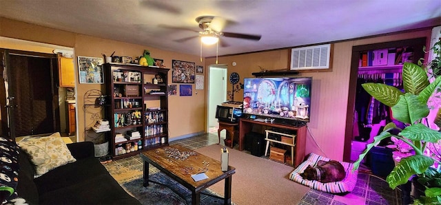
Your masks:
M10 136L59 131L57 56L6 50Z

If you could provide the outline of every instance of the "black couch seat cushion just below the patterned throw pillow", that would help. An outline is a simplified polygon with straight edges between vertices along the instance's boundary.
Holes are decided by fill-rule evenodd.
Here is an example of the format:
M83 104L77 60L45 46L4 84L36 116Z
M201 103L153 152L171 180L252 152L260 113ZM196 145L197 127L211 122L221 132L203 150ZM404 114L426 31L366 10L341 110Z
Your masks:
M110 175L107 169L98 159L83 158L69 164L59 166L44 175L34 179L38 191L41 194L54 191L56 189L72 186L74 184L88 181L102 174Z

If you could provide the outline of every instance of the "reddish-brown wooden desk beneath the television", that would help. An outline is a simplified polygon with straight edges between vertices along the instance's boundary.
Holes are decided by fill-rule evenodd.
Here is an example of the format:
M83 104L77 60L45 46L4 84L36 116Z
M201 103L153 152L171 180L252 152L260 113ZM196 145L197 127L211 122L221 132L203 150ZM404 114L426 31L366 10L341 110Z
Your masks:
M252 130L254 125L267 126L267 127L276 127L280 129L288 129L293 131L293 135L296 136L295 142L296 144L294 149L294 153L291 153L291 159L294 160L293 166L298 166L305 159L305 146L306 146L306 132L307 127L301 126L291 126L285 124L271 123L271 122L259 122L255 120L249 120L245 118L240 118L239 120L239 151L243 151L244 142L245 142L245 134Z

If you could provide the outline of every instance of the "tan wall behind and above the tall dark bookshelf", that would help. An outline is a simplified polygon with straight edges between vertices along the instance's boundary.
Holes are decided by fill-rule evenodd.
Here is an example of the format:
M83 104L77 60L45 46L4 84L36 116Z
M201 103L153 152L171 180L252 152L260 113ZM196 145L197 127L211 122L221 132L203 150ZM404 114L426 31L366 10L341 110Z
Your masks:
M110 55L115 52L118 56L140 56L143 50L150 50L153 58L161 58L164 60L165 67L171 67L172 59L195 62L196 65L203 65L199 56L188 54L179 54L165 50L159 50L145 45L134 45L109 39L100 39L93 36L75 34L52 28L45 28L39 25L32 25L20 21L0 18L0 36L22 39L27 41L36 41L40 43L49 43L61 45L65 47L73 47L76 56L102 57L101 54ZM1 47L1 46L0 46ZM76 63L76 62L75 62ZM76 65L75 65L76 67ZM207 67L204 67L206 70ZM76 69L76 76L78 70ZM204 72L206 75L207 72ZM172 71L169 72L169 79ZM206 76L205 76L206 78ZM104 89L101 84L79 84L76 78L76 100L77 100L77 127L79 129L79 141L83 141L83 131L85 127L83 114L83 94L90 89ZM172 84L170 82L170 84ZM206 87L206 86L205 86ZM191 135L194 133L205 132L205 92L198 91L195 94L193 84L193 96L170 96L169 98L169 129L170 138ZM89 117L86 116L88 121ZM86 122L90 124L91 122Z

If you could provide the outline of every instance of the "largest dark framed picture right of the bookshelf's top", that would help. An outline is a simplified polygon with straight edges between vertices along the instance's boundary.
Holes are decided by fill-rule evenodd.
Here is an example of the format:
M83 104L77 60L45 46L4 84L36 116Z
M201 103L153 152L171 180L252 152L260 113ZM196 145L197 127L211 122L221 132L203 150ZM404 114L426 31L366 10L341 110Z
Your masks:
M194 83L196 64L172 60L172 83Z

